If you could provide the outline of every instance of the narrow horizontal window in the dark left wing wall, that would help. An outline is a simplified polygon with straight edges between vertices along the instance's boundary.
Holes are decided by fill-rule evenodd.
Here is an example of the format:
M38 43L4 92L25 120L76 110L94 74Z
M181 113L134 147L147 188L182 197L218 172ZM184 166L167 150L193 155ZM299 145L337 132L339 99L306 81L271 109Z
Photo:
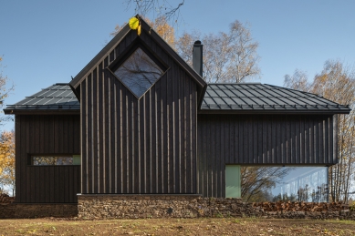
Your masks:
M80 155L71 156L39 156L33 155L30 159L33 166L70 166L80 165Z

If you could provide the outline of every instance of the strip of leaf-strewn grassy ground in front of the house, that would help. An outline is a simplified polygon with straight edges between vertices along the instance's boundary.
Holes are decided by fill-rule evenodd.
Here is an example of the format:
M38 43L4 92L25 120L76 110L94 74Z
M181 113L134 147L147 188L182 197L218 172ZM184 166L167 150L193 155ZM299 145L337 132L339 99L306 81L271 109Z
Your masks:
M255 218L0 220L5 235L355 235L355 221Z

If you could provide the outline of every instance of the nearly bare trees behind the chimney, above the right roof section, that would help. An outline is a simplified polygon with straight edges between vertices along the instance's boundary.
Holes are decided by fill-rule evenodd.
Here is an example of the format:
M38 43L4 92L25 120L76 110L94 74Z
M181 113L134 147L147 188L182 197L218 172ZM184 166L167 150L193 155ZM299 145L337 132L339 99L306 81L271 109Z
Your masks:
M175 44L180 56L192 65L193 42L201 39L204 44L204 80L208 83L239 83L260 77L257 66L259 56L256 54L257 42L250 30L235 20L229 32L202 35L184 33Z

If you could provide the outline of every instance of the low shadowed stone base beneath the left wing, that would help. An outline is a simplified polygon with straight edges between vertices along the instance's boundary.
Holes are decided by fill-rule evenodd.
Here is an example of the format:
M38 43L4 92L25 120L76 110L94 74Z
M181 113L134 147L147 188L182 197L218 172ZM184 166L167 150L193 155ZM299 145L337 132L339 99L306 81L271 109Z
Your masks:
M76 217L78 204L0 204L0 219Z

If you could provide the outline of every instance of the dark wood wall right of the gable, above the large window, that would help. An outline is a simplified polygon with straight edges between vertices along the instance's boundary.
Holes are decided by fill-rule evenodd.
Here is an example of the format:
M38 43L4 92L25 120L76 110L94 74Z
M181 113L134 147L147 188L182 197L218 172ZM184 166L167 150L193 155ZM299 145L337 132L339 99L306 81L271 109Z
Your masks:
M332 165L336 117L321 115L198 115L198 189L224 197L225 164Z

